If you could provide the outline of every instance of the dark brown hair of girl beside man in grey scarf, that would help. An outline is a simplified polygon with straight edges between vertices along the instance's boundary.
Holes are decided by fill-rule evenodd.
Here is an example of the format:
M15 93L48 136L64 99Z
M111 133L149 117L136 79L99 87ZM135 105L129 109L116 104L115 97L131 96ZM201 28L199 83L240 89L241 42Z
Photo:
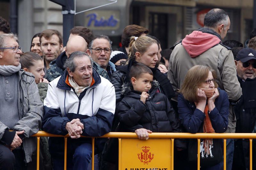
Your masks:
M20 65L21 69L29 69L31 66L34 66L34 62L43 61L42 57L34 52L28 51L20 55Z

